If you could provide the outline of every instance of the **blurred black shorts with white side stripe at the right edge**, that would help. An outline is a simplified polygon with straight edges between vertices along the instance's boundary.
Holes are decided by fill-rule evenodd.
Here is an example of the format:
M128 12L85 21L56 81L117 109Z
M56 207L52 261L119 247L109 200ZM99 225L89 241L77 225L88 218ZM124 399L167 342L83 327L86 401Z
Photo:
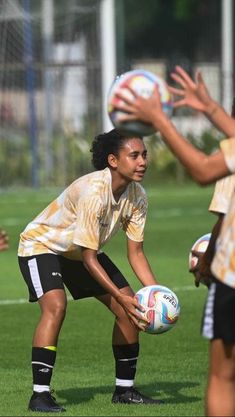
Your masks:
M216 279L209 289L201 332L210 340L235 343L235 289Z

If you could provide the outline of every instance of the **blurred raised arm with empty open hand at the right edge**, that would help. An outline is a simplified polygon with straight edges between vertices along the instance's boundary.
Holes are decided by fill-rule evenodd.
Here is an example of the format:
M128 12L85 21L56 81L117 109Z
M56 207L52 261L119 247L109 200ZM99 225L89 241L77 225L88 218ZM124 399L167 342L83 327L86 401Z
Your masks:
M197 71L195 83L188 73L176 66L171 77L182 89L169 87L169 90L180 97L173 107L189 106L195 110L203 111L207 118L220 131L227 136L235 136L235 119L232 118L219 104L212 100L209 91L203 82L201 70Z

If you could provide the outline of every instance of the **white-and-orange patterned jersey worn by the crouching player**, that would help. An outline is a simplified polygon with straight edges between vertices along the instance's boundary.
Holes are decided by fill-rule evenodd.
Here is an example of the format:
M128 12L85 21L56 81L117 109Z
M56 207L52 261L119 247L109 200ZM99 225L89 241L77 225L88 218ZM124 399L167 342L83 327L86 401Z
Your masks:
M147 198L132 181L118 203L109 168L76 179L21 233L19 256L54 253L82 260L81 246L99 251L122 228L143 241Z

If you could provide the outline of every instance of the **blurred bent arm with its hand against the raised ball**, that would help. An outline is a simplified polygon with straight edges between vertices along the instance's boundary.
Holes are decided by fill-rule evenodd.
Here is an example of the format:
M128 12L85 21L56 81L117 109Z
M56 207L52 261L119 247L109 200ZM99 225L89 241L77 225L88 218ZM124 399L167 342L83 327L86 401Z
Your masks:
M122 116L121 121L141 120L151 123L163 135L164 141L172 153L178 157L192 178L199 184L210 184L218 178L231 174L221 151L206 155L198 151L177 131L162 109L157 86L148 99L138 95L132 88L127 88L130 89L135 100L117 93L125 104L116 105L116 108L130 113Z

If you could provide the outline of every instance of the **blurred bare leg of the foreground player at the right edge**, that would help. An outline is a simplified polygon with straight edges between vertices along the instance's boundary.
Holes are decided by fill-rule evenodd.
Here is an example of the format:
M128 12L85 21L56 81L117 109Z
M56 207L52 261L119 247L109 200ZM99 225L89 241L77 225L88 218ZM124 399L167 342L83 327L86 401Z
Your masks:
M235 416L235 344L211 341L206 416Z

